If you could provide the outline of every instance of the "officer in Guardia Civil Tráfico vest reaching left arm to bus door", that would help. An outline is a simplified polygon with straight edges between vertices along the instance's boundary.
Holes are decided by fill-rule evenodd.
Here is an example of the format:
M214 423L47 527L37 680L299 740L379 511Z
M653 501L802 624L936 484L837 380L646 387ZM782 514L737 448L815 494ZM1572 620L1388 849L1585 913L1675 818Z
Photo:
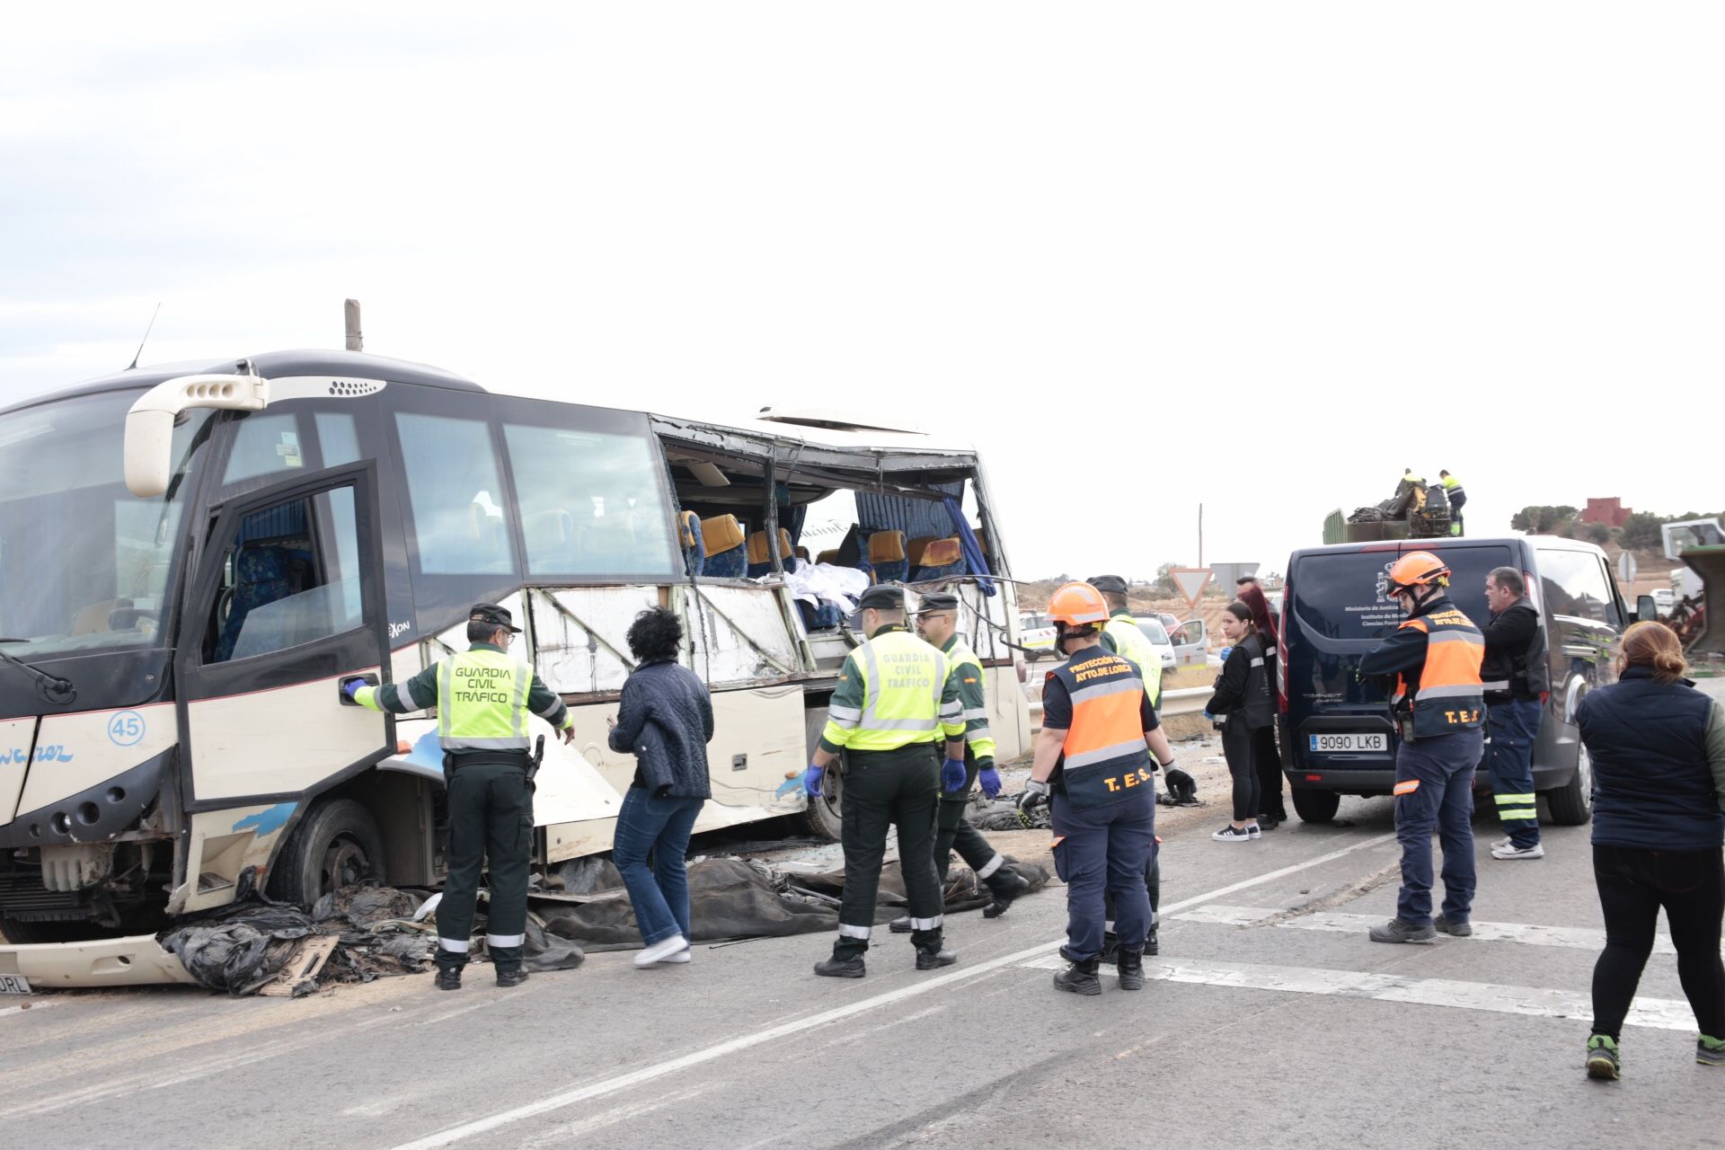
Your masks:
M533 797L528 784L528 712L574 741L574 717L533 667L509 657L521 633L509 610L474 603L461 655L440 659L405 683L342 690L361 707L407 714L436 705L448 797L448 878L436 910L436 986L461 990L480 891L480 862L490 859L492 902L485 948L499 986L528 981L521 967L528 929L528 864L533 853Z

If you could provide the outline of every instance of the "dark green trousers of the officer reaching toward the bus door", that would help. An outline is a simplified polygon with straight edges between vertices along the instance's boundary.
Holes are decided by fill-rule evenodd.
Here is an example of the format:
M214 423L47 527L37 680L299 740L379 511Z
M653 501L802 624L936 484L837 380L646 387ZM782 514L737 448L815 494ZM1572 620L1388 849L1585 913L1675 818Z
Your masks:
M526 755L521 766L495 762L452 766L448 786L448 876L436 909L436 964L467 966L480 869L490 860L492 902L485 914L485 948L499 972L521 966L528 929L528 864L533 860L533 791Z

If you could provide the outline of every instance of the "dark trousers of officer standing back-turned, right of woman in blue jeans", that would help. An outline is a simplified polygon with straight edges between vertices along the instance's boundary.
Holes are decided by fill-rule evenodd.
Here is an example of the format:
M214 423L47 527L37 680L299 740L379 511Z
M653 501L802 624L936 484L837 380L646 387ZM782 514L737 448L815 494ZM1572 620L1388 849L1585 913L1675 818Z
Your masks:
M933 743L847 750L844 784L840 841L845 848L845 890L838 902L833 955L850 959L868 950L887 829L892 826L899 828L899 871L911 902L911 943L918 950L940 950L944 903L935 869L940 752Z

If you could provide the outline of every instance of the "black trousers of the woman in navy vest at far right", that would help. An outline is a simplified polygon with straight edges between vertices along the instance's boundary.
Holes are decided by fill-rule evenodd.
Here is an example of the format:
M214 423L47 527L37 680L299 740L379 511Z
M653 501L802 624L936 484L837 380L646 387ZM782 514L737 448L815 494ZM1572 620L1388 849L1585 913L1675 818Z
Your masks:
M1594 1033L1622 1038L1640 971L1653 953L1659 907L1677 948L1677 978L1708 1038L1725 1040L1725 860L1713 850L1594 847L1594 883L1606 917L1606 948L1594 966Z

